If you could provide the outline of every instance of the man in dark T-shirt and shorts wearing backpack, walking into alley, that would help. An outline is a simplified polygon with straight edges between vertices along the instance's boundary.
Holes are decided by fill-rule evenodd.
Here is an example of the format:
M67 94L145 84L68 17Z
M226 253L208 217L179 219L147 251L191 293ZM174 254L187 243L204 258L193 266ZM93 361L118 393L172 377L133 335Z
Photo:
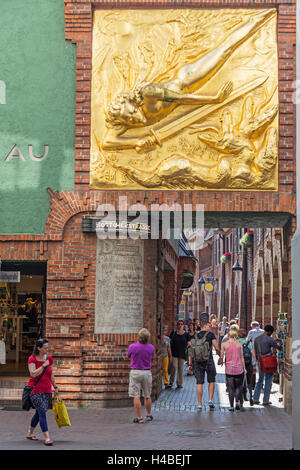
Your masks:
M202 396L205 372L208 382L208 406L210 409L215 407L213 396L215 392L216 367L213 359L212 348L214 347L220 356L220 349L217 344L215 335L210 331L208 320L200 322L201 330L196 332L195 337L191 340L188 347L189 370L194 367L194 374L197 381L197 410L202 410Z

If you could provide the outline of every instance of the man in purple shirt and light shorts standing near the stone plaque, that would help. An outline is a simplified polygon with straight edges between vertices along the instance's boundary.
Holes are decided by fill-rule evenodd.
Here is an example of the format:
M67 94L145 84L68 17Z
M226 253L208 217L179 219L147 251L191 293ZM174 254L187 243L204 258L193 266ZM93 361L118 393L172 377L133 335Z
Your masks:
M146 328L139 332L138 342L131 344L128 348L127 356L130 358L130 375L128 394L133 398L133 405L137 414L134 423L143 423L141 392L145 398L145 408L147 412L146 421L152 421L151 415L151 392L152 374L151 360L154 355L154 346L149 344L150 333Z

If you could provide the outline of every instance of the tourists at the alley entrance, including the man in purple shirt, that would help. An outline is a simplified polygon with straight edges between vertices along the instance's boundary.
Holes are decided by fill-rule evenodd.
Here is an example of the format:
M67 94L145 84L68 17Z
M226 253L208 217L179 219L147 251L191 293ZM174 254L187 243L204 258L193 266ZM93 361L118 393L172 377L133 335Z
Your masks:
M270 406L272 379L277 370L274 351L281 350L281 341L272 338L272 325L265 325L261 329L259 323L253 321L251 330L247 332L238 323L238 318L228 322L223 317L218 323L215 315L208 317L202 314L200 320L178 320L176 329L171 332L165 326L162 336L162 376L165 388L172 389L175 379L177 389L183 387L183 372L187 364L188 374L194 375L196 379L197 410L202 410L205 378L208 382L208 406L215 408L215 350L219 356L218 365L225 366L229 410L243 411L245 401L249 401L250 406L259 405L262 389L262 405ZM131 358L129 396L134 399L136 423L144 422L141 395L145 397L146 420L153 419L149 380L154 348L149 340L149 332L143 329L139 341L128 350Z

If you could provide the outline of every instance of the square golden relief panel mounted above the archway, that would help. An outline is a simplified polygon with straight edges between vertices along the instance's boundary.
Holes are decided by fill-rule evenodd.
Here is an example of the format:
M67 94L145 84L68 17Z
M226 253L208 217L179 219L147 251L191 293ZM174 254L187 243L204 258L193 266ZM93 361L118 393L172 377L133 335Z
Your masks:
M276 10L97 10L92 189L276 190Z

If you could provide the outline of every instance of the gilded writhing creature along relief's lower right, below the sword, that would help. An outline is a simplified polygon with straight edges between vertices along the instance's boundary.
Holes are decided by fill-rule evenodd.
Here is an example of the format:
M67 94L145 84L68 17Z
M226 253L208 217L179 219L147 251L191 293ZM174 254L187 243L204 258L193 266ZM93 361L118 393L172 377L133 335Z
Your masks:
M270 128L266 131L263 146L258 150L251 137L254 133L261 135L274 120L277 112L278 107L271 106L255 116L250 95L243 102L239 123L235 124L230 110L225 109L220 117L220 131L212 127L194 126L196 130L190 134L197 133L199 140L220 153L215 171L212 171L213 167L196 162L192 158L187 159L180 153L172 154L160 162L154 172L138 170L130 165L123 167L119 162L111 162L111 165L145 187L166 186L172 189L203 184L210 187L237 179L251 184L255 177L263 179L266 170L270 171L275 165L276 129Z

